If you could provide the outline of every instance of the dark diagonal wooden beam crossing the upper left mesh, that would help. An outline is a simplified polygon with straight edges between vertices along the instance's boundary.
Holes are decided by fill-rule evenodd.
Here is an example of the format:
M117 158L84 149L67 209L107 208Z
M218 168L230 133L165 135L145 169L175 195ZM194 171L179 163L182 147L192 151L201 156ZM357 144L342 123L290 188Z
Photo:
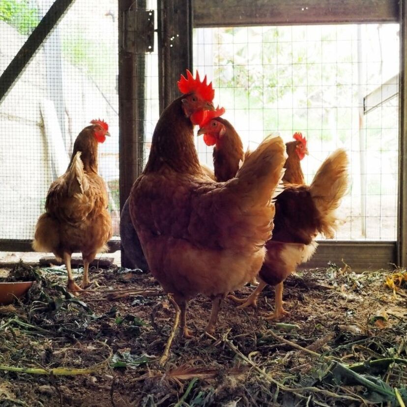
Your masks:
M0 76L0 103L74 0L56 0Z

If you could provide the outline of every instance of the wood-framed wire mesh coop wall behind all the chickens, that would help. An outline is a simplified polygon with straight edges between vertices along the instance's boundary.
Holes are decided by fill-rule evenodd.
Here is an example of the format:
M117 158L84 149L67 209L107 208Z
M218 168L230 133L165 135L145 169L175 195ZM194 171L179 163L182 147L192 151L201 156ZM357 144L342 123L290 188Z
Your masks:
M406 263L403 1L95 5L2 2L0 250L31 250L49 184L99 116L113 135L99 155L118 250L120 205L190 68L212 80L245 148L301 131L308 183L329 152L349 151L343 225L320 241L312 266ZM197 148L211 166L201 139Z

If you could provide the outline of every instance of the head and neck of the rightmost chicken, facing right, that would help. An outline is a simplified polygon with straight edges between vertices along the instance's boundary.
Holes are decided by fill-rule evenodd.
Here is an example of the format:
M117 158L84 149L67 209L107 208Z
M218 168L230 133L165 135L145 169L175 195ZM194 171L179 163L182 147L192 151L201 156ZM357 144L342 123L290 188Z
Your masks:
M301 133L294 133L292 138L295 141L286 143L288 158L284 164L286 172L283 182L296 185L304 185L305 178L301 169L300 161L308 155L307 140Z

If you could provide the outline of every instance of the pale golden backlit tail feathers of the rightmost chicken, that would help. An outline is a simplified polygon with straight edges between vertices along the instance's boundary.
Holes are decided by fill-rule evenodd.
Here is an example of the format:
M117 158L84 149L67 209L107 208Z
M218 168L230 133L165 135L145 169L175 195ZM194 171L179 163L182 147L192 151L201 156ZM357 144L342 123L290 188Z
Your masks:
M335 213L348 191L348 155L342 148L334 151L320 166L310 185L311 196L320 212L320 232L334 237L338 225Z

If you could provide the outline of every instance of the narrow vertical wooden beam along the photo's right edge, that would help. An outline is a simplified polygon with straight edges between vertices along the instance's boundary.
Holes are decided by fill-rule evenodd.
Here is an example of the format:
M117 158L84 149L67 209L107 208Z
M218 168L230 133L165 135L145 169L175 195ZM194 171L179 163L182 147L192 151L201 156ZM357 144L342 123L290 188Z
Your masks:
M397 263L407 267L407 1L400 0L399 203Z

